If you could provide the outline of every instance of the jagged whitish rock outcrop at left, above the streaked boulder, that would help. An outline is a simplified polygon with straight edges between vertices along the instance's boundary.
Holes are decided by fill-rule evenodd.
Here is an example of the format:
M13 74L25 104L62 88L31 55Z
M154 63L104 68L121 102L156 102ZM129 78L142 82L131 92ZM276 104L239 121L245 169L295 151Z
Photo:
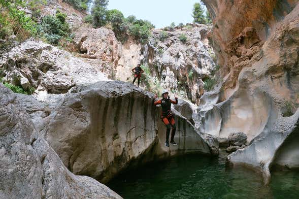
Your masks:
M80 84L108 80L98 68L41 41L27 41L0 58L4 80L36 89L39 100L47 93L65 93Z

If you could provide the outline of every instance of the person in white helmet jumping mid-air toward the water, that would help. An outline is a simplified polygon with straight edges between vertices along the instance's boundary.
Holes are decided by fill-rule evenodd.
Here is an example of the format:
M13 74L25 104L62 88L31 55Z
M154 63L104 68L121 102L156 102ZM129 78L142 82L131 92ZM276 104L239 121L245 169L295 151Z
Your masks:
M166 142L165 146L169 147L169 134L170 130L172 127L172 132L171 132L171 140L170 143L172 145L177 145L177 143L174 141L175 133L176 133L176 124L175 124L175 119L173 116L173 113L171 112L171 104L178 104L178 97L175 95L175 101L170 100L170 97L168 95L167 90L162 91L162 99L157 100L158 96L155 94L155 102L154 105L161 105L162 107L162 113L161 113L161 119L166 125Z

